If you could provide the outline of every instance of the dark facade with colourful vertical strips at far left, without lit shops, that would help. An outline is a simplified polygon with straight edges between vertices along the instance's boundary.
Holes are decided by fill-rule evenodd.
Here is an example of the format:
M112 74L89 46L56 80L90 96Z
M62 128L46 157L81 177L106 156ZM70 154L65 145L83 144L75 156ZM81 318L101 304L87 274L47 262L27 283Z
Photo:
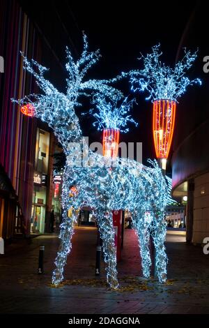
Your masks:
M2 228L1 237L10 239L15 234L18 216L23 221L24 233L29 230L37 124L36 120L24 118L10 99L36 91L34 81L22 69L20 51L38 59L39 42L33 24L17 1L1 1L0 15L0 53L4 59L4 72L0 74L0 164L4 171L1 174L10 181L15 193L15 198L7 202L8 217L1 216L1 226L10 227L9 232ZM1 190L2 211L3 203L6 204L6 198Z

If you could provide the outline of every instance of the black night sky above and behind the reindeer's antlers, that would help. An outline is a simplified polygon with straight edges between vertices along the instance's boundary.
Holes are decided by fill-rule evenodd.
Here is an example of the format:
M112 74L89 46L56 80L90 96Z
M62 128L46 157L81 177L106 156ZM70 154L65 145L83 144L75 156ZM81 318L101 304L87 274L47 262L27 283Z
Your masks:
M121 71L139 67L137 57L140 56L140 52L146 54L159 42L164 52L162 60L167 64L174 64L180 38L191 13L199 3L199 1L152 3L136 0L97 2L63 0L51 1L51 6L46 6L43 1L36 1L36 5L37 2L43 4L42 13L47 10L45 24L49 21L47 17L50 15L50 10L56 12L63 33L69 32L77 52L82 50L82 31L88 36L91 50L100 48L102 59L89 72L90 78L114 77ZM32 6L33 1L30 3ZM63 44L64 49L65 44ZM118 87L122 87L126 95L131 94L130 86L126 82L118 84ZM130 126L130 132L121 135L121 141L143 142L143 158L146 163L146 158L155 157L151 128L152 104L144 100L145 94L132 96L137 98L138 105L134 105L132 113L139 126L137 128ZM92 141L99 141L101 133L96 133L87 120L87 118L82 119L84 134L89 135Z

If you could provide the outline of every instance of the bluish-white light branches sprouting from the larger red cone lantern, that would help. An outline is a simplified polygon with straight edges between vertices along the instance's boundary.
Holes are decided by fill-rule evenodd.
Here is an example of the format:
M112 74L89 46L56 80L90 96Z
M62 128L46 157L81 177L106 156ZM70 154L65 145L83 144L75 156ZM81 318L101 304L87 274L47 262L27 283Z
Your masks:
M160 99L177 101L185 94L189 85L201 84L200 79L189 80L189 77L185 76L186 71L192 67L197 52L192 54L190 50L185 50L183 59L171 68L160 61L160 45L155 45L152 50L153 52L146 56L141 55L140 60L144 68L122 73L123 76L130 75L133 91L147 91L146 100L151 99L153 102Z

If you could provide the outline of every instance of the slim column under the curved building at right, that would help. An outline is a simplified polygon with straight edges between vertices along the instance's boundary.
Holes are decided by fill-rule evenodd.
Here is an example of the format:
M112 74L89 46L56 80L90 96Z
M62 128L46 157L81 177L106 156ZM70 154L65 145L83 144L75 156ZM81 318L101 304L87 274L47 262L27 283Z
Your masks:
M193 221L194 221L194 179L188 180L186 213L187 213L186 241L187 244L191 244L192 234L193 234Z

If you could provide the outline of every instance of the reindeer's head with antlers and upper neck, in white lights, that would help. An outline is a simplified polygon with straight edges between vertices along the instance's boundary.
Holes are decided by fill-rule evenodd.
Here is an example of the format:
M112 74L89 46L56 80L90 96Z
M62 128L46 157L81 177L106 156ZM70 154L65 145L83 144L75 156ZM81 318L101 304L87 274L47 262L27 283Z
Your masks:
M61 142L64 151L69 142L77 142L82 137L79 120L75 114L75 107L79 103L80 96L90 96L94 92L107 96L122 96L121 91L111 87L108 80L87 80L84 77L88 69L100 59L99 50L88 52L88 43L84 35L84 50L79 60L75 61L67 48L66 70L68 71L68 89L66 94L59 92L54 85L49 82L44 74L47 68L41 66L36 61L23 56L24 69L31 73L42 94L31 94L22 99L14 100L21 106L32 106L33 116L40 118L54 130L55 135Z

